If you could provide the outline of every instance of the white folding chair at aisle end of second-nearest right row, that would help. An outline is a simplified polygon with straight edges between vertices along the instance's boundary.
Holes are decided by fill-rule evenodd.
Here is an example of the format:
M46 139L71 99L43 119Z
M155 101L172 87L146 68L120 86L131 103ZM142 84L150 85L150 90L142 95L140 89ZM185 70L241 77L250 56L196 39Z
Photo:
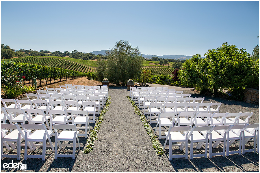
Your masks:
M166 137L166 136L161 136L162 130L169 130L169 127L163 128L163 129L161 127L173 126L174 117L175 117L175 112L174 113L159 113L158 118L156 119L157 124L155 126L155 131L154 131L154 133L155 133L157 130L157 126L159 126L159 139L161 139L162 137Z

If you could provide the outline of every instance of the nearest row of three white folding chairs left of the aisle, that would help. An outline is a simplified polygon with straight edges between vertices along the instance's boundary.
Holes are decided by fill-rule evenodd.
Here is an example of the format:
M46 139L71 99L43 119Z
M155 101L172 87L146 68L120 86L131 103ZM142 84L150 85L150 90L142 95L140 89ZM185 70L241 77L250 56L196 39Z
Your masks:
M31 157L31 158L42 158L42 160L44 161L46 147L51 147L51 149L55 151L55 159L57 159L57 157L72 157L73 159L75 159L76 138L80 150L79 138L78 138L79 131L77 131L76 124L59 124L59 125L53 124L54 132L55 132L55 149L53 147L50 138L51 134L53 133L53 130L47 130L44 124L22 123L21 126L23 127L23 130L18 126L18 124L2 124L2 127L6 129L10 129L10 133L6 134L1 129L1 159L3 159L3 157L11 157L20 160L22 139L25 140L25 144L23 144L23 146L25 146L25 154L24 154L25 160ZM63 130L61 133L58 133L58 129L69 129L69 131ZM30 133L33 130L34 132ZM50 143L49 145L46 145L47 139ZM61 144L60 141L73 141L73 144ZM17 155L3 154L3 143L5 144L6 148L8 148L8 150L11 149L7 144L7 142L12 147L12 149L15 149L16 148L15 145L17 145ZM15 144L13 142L17 142L17 143ZM37 142L38 144L35 144L34 142ZM42 142L42 144L39 144L39 142ZM73 154L58 155L57 154L58 144L60 146L60 149L62 148L62 145L73 145ZM29 146L31 150L36 150L36 146L42 146L42 155L27 154L27 146Z

